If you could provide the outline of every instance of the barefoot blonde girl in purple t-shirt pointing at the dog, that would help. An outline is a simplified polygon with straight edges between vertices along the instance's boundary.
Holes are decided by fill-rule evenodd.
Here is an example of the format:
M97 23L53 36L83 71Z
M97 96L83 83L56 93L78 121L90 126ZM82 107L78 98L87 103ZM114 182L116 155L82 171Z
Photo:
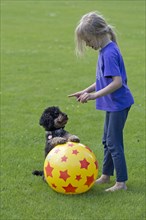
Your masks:
M127 167L124 155L123 129L131 105L134 103L127 86L126 70L113 28L96 12L84 15L75 30L76 52L82 55L85 46L99 50L96 82L88 88L69 95L87 103L96 100L96 109L106 112L103 145L102 175L97 184L109 183L116 171L116 183L106 191L127 189Z

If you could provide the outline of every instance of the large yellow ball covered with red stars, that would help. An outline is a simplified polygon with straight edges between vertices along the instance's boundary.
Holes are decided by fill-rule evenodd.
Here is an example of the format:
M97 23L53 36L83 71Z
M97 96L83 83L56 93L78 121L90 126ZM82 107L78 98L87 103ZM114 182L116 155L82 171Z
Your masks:
M98 162L89 147L74 142L57 145L44 163L45 179L60 193L78 194L88 191L98 175Z

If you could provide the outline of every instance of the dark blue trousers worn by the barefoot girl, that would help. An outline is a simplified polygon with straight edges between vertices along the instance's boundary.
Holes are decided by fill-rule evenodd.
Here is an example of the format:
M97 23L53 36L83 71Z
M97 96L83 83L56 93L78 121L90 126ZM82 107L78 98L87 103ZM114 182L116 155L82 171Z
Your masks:
M104 124L104 161L102 173L113 176L116 171L116 181L125 182L128 179L124 155L123 129L130 108L118 112L106 112Z

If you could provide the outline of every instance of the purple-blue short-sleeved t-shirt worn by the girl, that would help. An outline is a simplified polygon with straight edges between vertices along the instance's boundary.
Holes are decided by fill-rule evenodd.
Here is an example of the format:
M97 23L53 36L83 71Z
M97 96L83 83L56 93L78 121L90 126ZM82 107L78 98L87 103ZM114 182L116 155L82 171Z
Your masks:
M118 46L111 42L99 52L96 69L96 91L112 82L113 76L121 76L122 87L111 94L96 99L96 109L114 112L122 111L134 103L133 96L127 86L124 61Z

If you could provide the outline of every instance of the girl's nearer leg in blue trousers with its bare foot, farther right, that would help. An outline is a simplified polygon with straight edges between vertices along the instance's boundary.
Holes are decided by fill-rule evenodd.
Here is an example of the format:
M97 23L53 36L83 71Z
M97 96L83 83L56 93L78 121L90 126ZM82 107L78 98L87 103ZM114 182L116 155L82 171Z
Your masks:
M107 191L126 189L128 179L124 155L123 129L128 115L128 109L120 112L110 112L106 144L111 153L116 170L116 184Z

